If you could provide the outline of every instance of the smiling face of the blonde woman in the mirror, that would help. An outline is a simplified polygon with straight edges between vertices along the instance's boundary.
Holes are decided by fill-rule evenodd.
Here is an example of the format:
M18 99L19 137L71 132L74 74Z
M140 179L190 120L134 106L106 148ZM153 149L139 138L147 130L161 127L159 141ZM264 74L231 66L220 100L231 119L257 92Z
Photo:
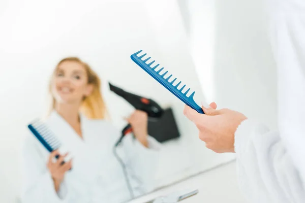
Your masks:
M57 66L52 80L52 95L56 103L80 103L92 92L83 64L77 61L63 61Z

